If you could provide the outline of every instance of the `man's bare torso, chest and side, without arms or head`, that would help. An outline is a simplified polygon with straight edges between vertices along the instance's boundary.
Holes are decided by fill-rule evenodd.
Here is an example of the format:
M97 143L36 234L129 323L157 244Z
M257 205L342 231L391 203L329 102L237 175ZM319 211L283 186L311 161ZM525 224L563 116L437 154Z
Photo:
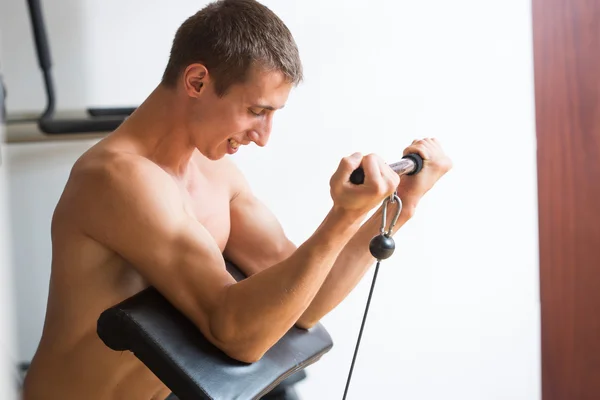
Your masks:
M149 172L146 179L153 179L165 197L179 201L182 210L197 218L223 251L230 226L231 186L225 160L208 161L194 154L188 171L178 178L139 153L129 137L115 135L90 149L73 168L52 221L46 322L25 381L25 399L164 399L169 393L134 356L108 349L96 334L102 311L149 284L114 250L86 234L82 225L90 222L82 220L86 213L81 209L87 203L85 190L90 184L102 185L103 175L117 173L115 165L142 167ZM105 204L110 204L111 193L106 191L105 196Z

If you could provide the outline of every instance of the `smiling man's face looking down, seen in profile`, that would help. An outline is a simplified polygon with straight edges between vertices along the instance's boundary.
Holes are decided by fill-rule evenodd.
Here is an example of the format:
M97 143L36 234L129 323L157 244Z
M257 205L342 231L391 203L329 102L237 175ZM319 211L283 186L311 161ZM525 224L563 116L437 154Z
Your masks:
M218 97L210 80L196 99L190 128L196 148L217 160L252 142L269 140L273 115L287 101L292 85L280 72L253 70L245 83Z

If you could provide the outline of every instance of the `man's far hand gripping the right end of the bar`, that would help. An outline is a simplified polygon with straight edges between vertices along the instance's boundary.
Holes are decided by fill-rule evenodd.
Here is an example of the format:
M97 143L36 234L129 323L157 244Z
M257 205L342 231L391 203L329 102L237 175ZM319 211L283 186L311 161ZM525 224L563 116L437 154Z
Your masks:
M414 208L425 193L452 169L452 161L435 138L415 140L403 155L417 153L423 158L423 169L415 175L405 175L398 185L403 207Z

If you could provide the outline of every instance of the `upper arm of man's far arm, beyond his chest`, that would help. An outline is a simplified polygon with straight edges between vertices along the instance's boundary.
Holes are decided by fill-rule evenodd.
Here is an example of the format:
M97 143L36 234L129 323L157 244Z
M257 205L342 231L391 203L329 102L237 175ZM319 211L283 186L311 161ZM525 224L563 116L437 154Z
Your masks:
M274 213L249 190L230 206L231 232L224 254L247 275L285 260L296 250Z

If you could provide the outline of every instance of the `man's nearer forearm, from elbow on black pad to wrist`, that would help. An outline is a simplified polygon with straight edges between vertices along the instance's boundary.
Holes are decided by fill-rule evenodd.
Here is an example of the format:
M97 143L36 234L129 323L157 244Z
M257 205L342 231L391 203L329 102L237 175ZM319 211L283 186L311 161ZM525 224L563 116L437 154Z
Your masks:
M248 357L270 348L298 320L361 220L332 210L287 259L230 286L212 324L215 336ZM260 355L260 354L259 354Z

